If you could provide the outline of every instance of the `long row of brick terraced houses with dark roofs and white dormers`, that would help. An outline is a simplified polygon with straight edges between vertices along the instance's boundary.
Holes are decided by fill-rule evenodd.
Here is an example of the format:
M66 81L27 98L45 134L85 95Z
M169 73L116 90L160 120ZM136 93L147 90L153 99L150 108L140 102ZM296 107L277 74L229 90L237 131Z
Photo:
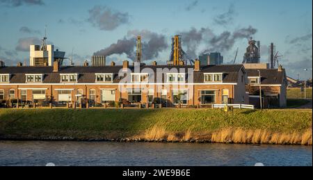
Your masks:
M10 106L49 103L102 106L123 104L201 106L248 104L243 65L129 65L0 67L0 102ZM156 100L157 99L157 100Z

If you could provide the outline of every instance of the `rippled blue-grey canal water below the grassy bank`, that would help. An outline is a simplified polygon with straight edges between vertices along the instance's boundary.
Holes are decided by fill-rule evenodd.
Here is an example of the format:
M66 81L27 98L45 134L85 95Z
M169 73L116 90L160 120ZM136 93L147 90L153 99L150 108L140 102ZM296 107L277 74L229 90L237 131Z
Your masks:
M310 165L312 146L0 141L0 165Z

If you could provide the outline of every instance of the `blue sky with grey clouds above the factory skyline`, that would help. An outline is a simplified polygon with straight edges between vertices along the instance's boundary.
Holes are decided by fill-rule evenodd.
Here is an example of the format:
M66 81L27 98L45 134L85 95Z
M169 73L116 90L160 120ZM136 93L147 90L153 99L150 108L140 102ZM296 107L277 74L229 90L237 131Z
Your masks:
M262 62L268 61L267 47L274 42L284 56L280 63L287 68L287 75L312 77L312 0L0 0L0 22L0 59L6 65L28 62L27 43L42 38L47 25L48 40L67 56L74 49L77 65L101 49L110 52L108 61L120 63L131 58L133 49L128 54L114 54L117 49L107 48L118 40L131 42L131 35L137 35L134 32L144 34L147 49L152 49L153 54L146 55L147 63L165 63L170 38L177 33L185 38L202 34L198 41L183 41L184 50L197 56L207 49L221 51L225 63L234 59L238 47L236 61L241 63L247 37L252 36L261 41ZM235 32L242 31L245 37L234 38Z

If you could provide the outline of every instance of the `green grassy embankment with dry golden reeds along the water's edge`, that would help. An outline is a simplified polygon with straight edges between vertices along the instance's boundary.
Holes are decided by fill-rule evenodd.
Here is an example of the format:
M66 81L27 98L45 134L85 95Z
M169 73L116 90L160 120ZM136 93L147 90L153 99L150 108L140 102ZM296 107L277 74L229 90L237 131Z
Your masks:
M312 145L312 110L0 110L0 138L145 139Z

